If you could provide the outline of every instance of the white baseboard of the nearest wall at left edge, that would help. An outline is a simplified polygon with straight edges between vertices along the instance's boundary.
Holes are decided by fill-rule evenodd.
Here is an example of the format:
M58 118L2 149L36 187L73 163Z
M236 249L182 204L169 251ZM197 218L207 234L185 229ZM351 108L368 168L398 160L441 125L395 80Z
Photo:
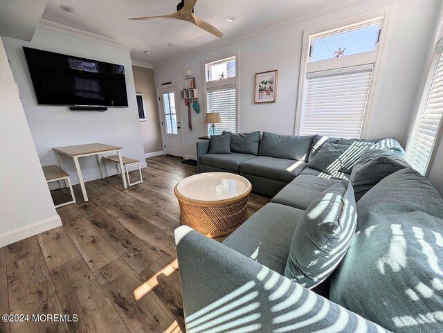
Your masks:
M0 235L0 247L18 242L19 240L24 240L25 238L37 235L39 233L44 233L44 231L57 228L57 226L62 225L62 220L60 216L54 216L49 219L44 219L43 221L29 224L22 228L17 228L7 233L2 233Z

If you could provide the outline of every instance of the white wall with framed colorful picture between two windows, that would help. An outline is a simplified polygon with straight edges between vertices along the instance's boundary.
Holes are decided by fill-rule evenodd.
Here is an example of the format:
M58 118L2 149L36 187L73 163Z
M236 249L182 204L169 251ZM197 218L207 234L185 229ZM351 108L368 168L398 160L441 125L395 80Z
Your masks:
M371 0L335 12L301 21L257 37L237 42L206 53L193 53L154 64L157 89L172 82L184 88L183 71L192 70L197 89L204 80L202 62L217 60L239 51L239 130L293 134L296 121L296 96L304 30L350 19L379 8L390 10L386 43L383 48L374 101L366 129L366 138L396 136L406 138L410 114L424 69L427 49L433 34L440 0ZM266 105L253 103L254 75L261 71L279 70L278 100ZM200 98L201 109L205 109ZM183 123L186 107L180 102ZM193 131L182 127L186 143L185 155L195 156L195 142L205 134L204 112L192 114Z

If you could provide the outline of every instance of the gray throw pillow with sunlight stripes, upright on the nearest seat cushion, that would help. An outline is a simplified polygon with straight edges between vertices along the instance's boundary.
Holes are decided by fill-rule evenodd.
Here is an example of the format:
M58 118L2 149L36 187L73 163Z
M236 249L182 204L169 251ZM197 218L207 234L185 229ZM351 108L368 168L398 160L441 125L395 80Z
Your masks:
M341 181L321 193L296 226L284 276L311 289L336 269L356 228L354 190Z

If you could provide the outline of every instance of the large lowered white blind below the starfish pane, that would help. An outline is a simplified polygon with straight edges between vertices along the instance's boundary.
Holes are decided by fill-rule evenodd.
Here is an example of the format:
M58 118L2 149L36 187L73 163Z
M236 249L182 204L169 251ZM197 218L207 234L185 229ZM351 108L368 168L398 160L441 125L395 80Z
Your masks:
M307 73L300 134L359 138L373 66Z

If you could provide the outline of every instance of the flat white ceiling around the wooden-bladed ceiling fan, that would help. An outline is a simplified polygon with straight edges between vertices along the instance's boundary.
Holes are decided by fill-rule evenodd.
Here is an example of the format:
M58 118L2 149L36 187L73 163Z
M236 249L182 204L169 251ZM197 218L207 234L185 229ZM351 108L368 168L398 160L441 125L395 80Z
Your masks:
M12 0L0 0L0 3L4 1ZM42 19L117 39L132 48L133 60L155 63L204 45L226 44L246 35L266 31L285 21L315 15L328 6L337 8L359 1L362 0L198 0L195 15L221 30L225 35L223 39L185 21L128 20L129 17L175 12L179 0L48 0ZM78 14L64 12L60 9L61 5L77 8ZM226 17L230 15L237 17L237 21L226 22ZM176 43L177 46L171 48L168 42ZM151 51L152 55L145 55L145 50Z

